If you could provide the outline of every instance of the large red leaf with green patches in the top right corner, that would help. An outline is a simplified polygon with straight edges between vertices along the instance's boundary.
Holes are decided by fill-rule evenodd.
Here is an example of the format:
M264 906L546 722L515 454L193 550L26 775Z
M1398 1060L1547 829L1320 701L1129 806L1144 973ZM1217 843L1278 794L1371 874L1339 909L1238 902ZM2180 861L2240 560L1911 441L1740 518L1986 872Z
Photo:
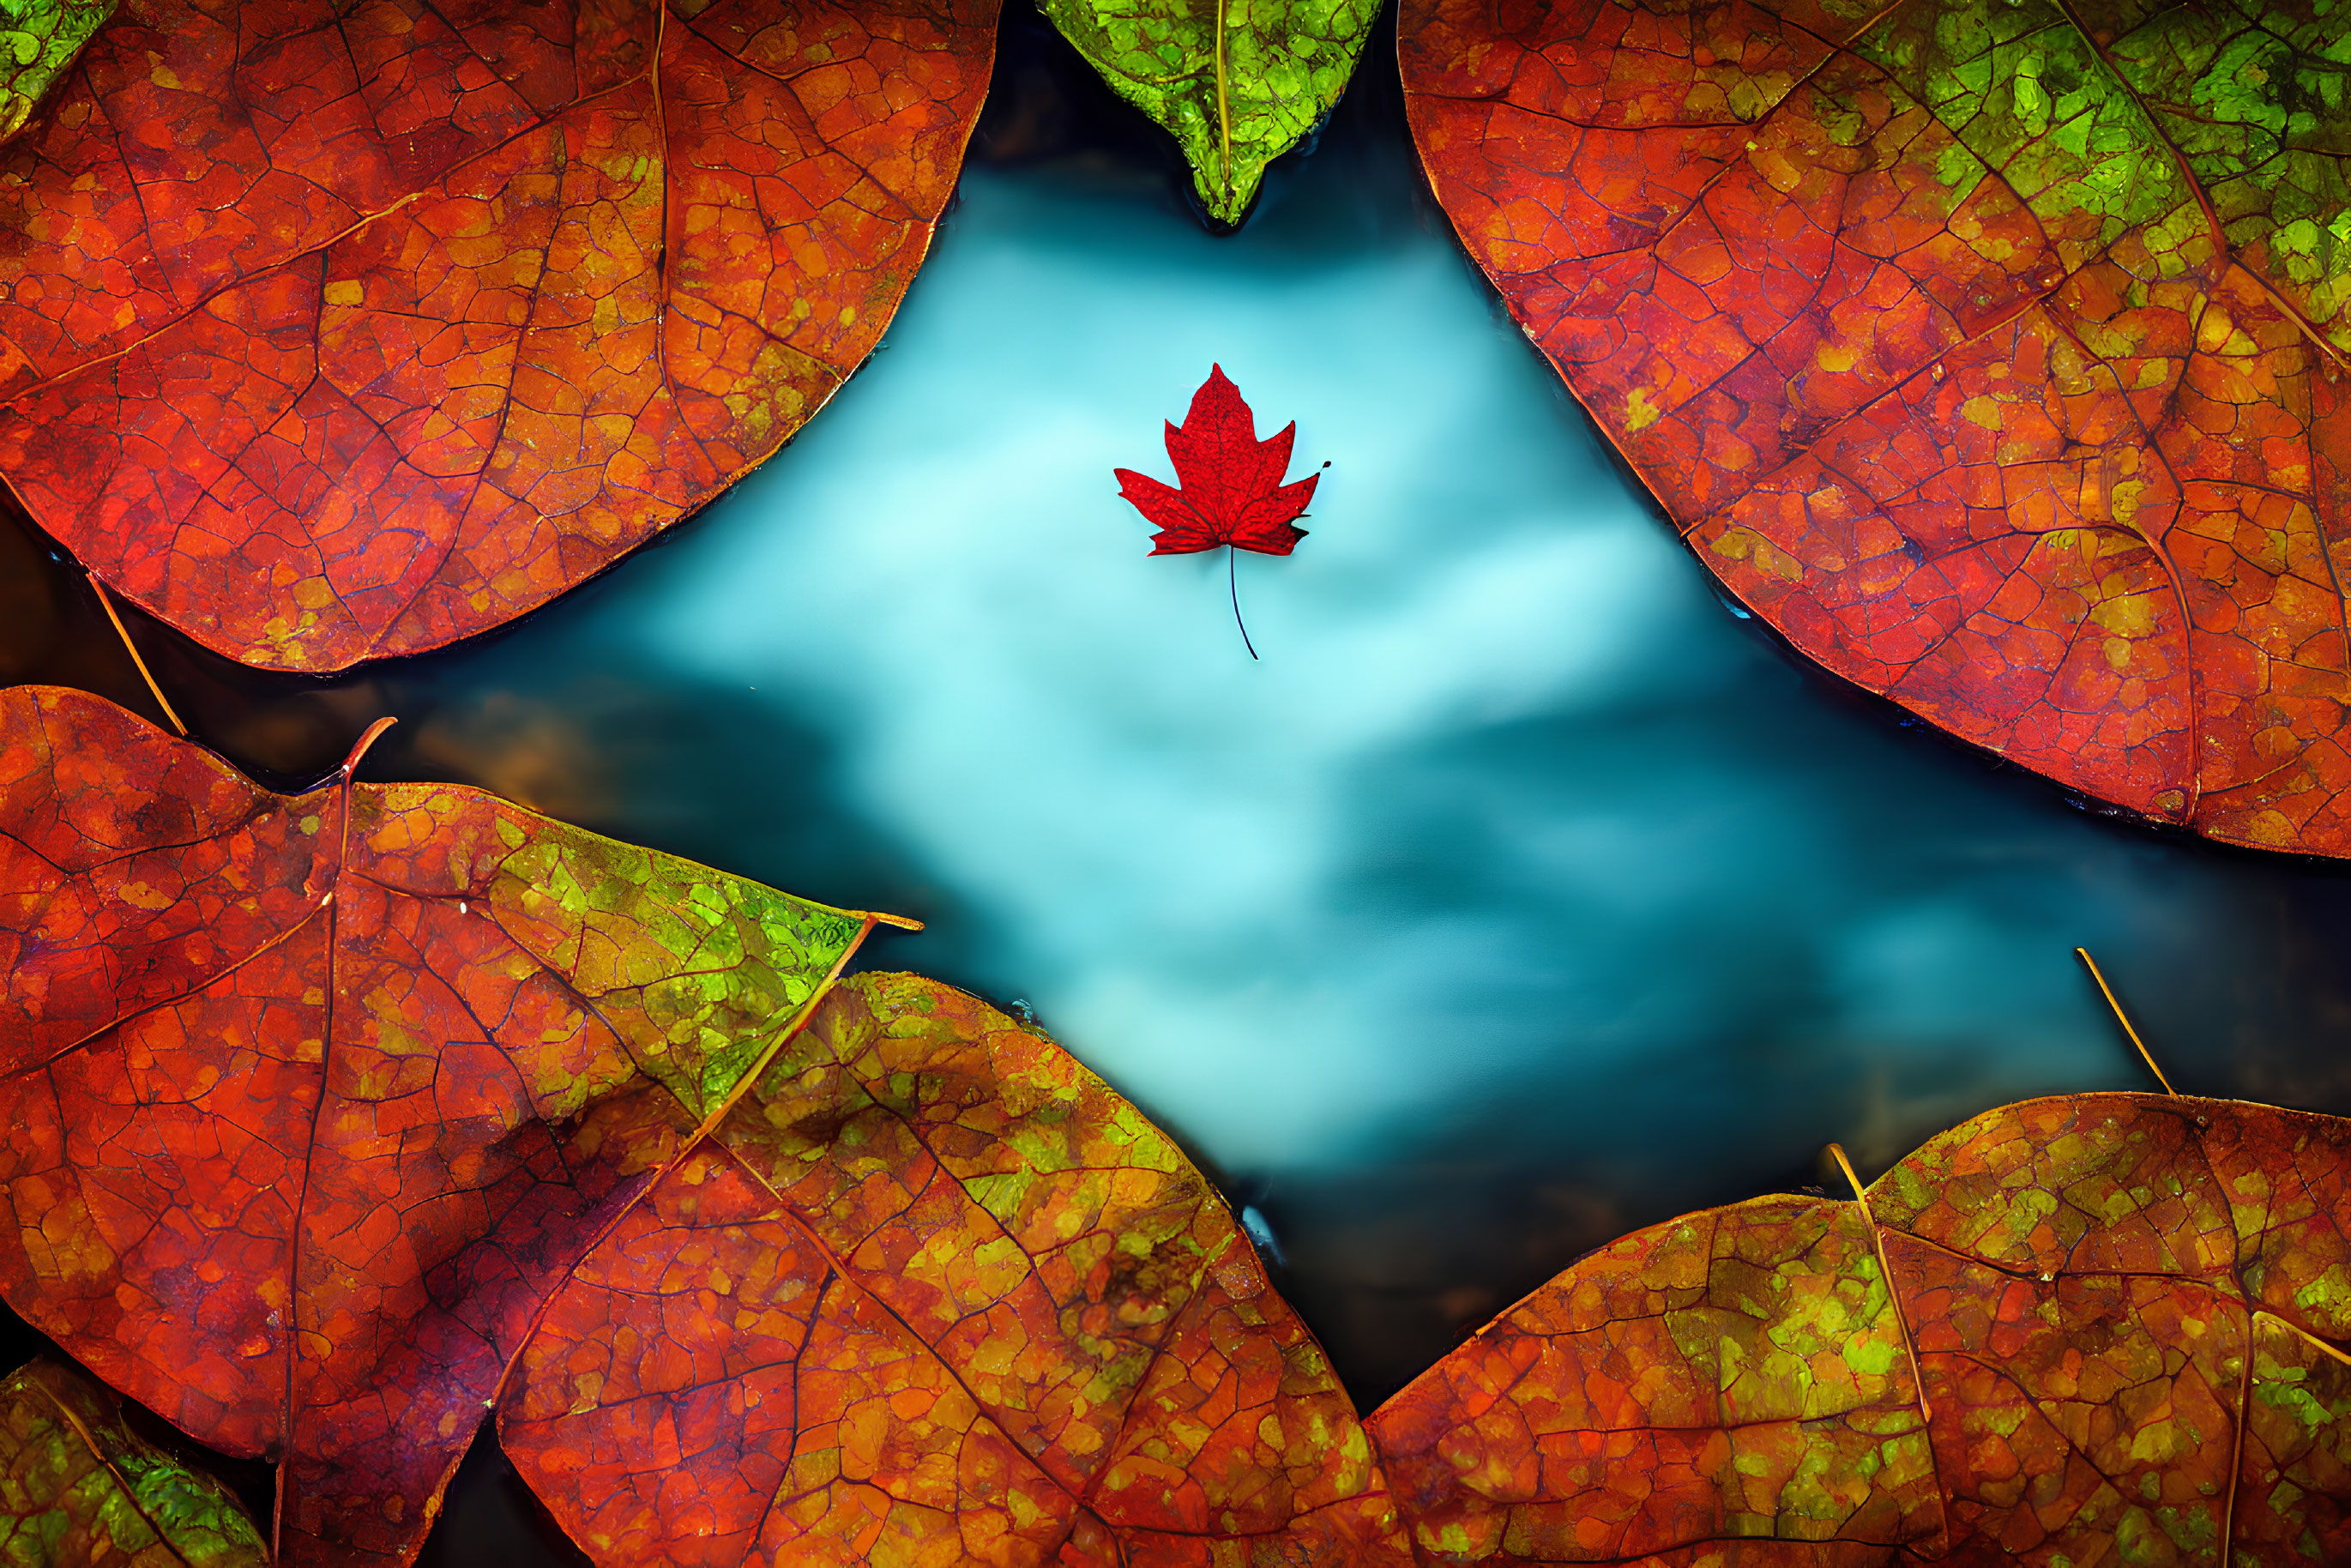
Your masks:
M2323 0L1408 0L1462 242L1799 649L2351 853L2351 56Z

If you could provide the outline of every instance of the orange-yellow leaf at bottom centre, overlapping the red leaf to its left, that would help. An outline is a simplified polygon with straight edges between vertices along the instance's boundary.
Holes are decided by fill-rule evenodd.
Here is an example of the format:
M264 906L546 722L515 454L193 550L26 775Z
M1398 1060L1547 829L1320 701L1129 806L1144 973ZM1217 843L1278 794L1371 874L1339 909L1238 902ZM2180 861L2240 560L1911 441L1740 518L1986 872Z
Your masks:
M919 976L832 990L597 1244L498 1434L614 1568L1411 1561L1206 1178Z

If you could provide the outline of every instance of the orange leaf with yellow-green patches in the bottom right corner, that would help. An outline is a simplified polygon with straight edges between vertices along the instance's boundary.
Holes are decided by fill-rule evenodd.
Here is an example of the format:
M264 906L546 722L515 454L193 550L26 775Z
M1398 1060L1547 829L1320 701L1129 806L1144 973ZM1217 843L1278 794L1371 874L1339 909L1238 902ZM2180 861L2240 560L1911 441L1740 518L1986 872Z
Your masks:
M1366 1425L1425 1563L2330 1563L2346 1340L2351 1124L2092 1093L1636 1232Z

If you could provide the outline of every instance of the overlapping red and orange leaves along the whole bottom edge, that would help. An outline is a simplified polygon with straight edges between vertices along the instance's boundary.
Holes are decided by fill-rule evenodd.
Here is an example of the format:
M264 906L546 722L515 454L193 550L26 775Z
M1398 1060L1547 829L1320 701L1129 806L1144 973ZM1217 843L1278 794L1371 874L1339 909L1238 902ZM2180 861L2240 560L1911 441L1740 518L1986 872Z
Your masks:
M0 1547L404 1563L494 1418L614 1568L2351 1554L2342 1119L2001 1107L1632 1234L1359 1420L1133 1105L842 978L877 919L0 693L0 1295L277 1467L261 1530L35 1366Z

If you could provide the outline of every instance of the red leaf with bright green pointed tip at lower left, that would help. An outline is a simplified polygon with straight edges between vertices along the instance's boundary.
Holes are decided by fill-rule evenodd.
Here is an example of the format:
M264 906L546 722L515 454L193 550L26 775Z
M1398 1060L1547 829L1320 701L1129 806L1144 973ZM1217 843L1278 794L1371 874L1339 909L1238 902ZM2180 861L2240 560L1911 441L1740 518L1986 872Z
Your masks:
M275 1460L284 1561L404 1561L548 1291L870 926L0 691L0 1293Z

